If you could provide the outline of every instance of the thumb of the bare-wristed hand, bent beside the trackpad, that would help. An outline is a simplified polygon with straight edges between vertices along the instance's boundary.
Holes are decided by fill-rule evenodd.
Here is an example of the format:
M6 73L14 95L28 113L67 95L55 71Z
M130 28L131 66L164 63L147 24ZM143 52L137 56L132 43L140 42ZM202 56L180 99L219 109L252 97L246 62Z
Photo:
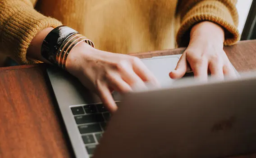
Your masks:
M186 53L183 53L178 61L178 64L175 70L171 71L169 73L169 76L172 79L180 79L185 75L186 71L187 71L187 59L186 59Z

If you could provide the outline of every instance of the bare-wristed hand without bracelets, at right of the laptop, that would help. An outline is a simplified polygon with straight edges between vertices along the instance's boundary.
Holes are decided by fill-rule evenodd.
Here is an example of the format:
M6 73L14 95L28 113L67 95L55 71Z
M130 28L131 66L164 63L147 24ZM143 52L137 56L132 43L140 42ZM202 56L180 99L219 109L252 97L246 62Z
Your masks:
M223 50L224 30L212 22L201 22L190 32L190 42L169 76L179 79L190 66L194 76L207 80L208 72L219 79L224 75L235 77L236 73ZM189 66L187 65L189 64Z

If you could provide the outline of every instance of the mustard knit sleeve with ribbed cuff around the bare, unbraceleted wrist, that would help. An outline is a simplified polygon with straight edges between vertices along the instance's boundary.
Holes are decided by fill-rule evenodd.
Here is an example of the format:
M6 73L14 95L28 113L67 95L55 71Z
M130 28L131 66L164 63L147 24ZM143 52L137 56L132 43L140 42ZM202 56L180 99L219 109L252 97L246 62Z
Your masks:
M189 43L192 26L202 21L210 21L224 28L224 45L235 44L240 35L238 32L237 0L180 0L177 15L181 19L176 42L179 47Z

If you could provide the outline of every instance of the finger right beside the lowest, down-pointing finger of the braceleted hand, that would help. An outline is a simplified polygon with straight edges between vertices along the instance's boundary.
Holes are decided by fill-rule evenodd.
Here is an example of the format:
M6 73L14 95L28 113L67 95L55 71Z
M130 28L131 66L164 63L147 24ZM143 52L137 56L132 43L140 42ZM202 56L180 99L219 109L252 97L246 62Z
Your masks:
M128 83L121 79L120 75L113 73L112 75L107 77L107 82L109 83L109 86L117 92L126 93L132 91L132 88L129 86Z

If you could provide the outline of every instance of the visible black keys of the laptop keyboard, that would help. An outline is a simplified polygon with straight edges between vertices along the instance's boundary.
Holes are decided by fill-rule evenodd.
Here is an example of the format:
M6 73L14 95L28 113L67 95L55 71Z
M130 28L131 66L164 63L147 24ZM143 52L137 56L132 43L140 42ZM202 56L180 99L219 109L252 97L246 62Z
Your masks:
M116 104L118 103L119 101L116 101ZM87 153L92 156L111 115L103 104L74 105L70 109Z

